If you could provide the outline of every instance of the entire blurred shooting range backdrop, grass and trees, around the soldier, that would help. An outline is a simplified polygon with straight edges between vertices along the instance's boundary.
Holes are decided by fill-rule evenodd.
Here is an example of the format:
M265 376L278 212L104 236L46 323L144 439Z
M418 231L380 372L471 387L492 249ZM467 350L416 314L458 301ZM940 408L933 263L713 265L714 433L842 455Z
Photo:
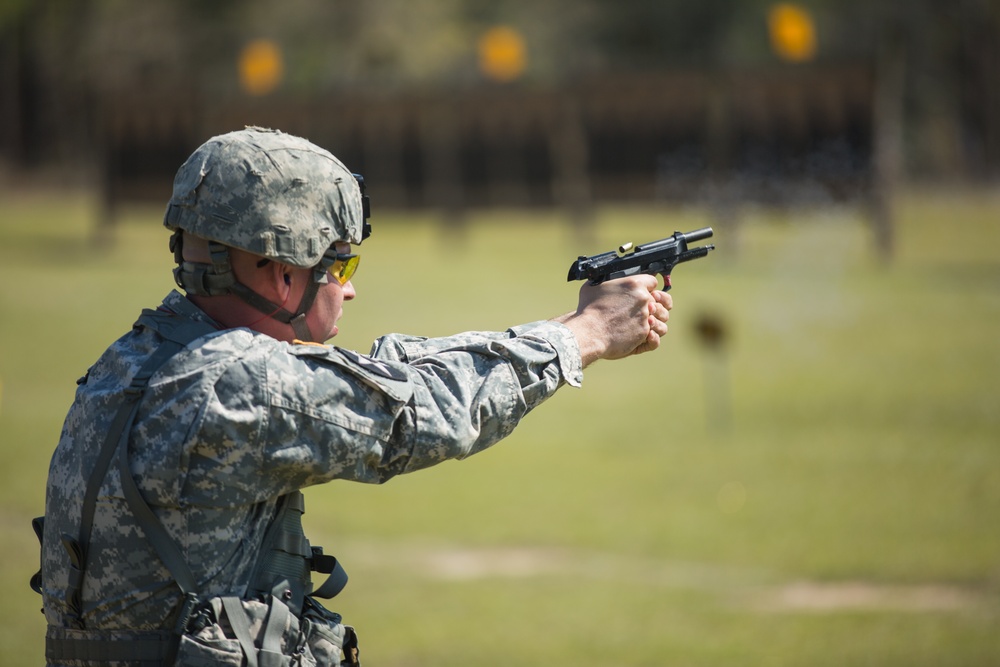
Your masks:
M0 0L0 665L42 664L74 380L172 287L177 167L245 125L365 175L363 352L715 229L655 355L307 494L366 662L1000 665L998 0Z

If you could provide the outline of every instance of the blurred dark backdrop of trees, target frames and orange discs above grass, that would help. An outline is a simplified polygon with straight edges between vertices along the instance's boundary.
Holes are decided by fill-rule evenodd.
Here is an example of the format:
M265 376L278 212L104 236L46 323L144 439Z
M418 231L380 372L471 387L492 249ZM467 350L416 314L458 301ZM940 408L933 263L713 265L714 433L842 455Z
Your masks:
M383 206L870 206L1000 173L995 0L4 0L0 165L115 207L245 124L329 147ZM68 173L67 173L68 172Z

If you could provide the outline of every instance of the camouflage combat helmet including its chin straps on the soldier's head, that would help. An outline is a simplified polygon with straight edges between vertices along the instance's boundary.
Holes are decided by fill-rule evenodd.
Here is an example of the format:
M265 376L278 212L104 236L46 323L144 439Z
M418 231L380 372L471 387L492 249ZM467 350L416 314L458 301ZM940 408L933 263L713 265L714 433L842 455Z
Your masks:
M357 256L341 255L335 244L366 239L368 215L364 179L328 151L277 130L248 127L212 137L181 165L163 224L174 232L178 287L189 295L235 295L311 341L306 314L329 267L342 258L354 258L357 266ZM210 263L185 259L185 234L208 241ZM230 248L313 269L295 312L237 280Z

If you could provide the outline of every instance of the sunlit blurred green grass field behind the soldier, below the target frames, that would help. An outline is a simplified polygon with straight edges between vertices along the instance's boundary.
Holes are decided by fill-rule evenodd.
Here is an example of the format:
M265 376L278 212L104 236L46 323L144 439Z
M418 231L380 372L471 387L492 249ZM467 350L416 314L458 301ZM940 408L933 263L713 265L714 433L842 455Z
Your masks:
M43 663L29 522L75 380L172 287L159 210L104 249L93 214L0 196L0 665ZM360 351L570 310L578 254L712 221L374 223L337 339ZM901 198L888 266L849 208L716 232L657 353L596 364L480 456L307 492L366 664L1000 665L1000 192Z

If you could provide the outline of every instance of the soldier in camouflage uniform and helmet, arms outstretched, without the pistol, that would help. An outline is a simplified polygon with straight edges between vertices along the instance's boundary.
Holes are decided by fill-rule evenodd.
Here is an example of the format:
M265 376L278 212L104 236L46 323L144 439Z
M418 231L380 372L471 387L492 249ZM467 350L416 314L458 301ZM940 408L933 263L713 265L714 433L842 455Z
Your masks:
M181 166L165 225L186 294L81 378L52 458L33 579L49 665L357 664L317 601L346 575L302 534L300 490L482 451L667 331L671 298L640 275L505 332L322 345L367 217L363 180L281 132L214 137Z

